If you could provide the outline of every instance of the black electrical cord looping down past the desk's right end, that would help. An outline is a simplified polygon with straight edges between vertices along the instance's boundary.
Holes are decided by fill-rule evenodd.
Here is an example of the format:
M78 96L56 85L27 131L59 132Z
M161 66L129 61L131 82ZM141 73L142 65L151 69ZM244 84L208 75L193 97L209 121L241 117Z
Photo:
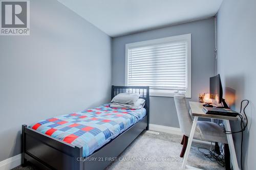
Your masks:
M243 114L245 115L245 119L246 119L246 124L244 124L244 121L243 121L243 114L242 114L242 106L243 106L243 102L246 102L244 108L243 108ZM243 161L243 137L244 137L244 131L246 130L246 127L248 125L248 118L245 114L245 108L248 106L249 104L249 101L248 100L243 100L241 102L241 105L240 105L240 113L239 113L239 117L241 119L241 122L240 122L240 126L241 126L241 130L240 131L236 131L236 132L233 132L233 131L226 131L224 130L224 133L225 134L235 134L235 133L240 133L241 132L241 160L240 160L240 164L241 164L241 170L243 170L243 164L242 164L242 161Z

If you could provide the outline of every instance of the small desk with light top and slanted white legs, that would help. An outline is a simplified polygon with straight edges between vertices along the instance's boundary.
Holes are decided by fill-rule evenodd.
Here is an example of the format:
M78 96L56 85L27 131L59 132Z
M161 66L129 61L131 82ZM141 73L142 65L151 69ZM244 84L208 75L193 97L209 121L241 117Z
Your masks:
M187 148L186 148L186 152L185 152L185 155L184 155L182 168L181 168L182 170L184 170L184 169L199 169L199 168L195 168L195 167L191 167L191 166L186 165L187 164L187 158L188 158L189 151L190 151L190 147L191 147L191 143L192 143L192 140L193 140L193 136L194 136L194 133L195 133L195 130L196 130L196 127L197 127L198 117L222 119L226 123L225 128L226 128L227 131L231 131L229 120L238 120L238 116L237 117L230 117L230 116L205 114L202 110L203 103L189 102L189 106L190 106L190 109L191 109L191 113L194 116L194 122L193 122L191 132L190 132L190 135L189 135L189 138L188 138ZM227 134L227 141L228 141L228 147L229 147L229 152L230 152L231 163L232 163L233 169L238 170L239 167L238 167L236 151L234 150L234 142L233 142L232 134Z

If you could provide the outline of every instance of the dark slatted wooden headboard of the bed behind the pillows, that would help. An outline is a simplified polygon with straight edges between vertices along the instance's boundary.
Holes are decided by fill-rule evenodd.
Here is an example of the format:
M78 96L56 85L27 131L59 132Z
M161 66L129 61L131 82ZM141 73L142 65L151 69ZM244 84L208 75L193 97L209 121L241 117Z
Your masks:
M112 86L111 89L111 100L119 93L139 93L140 98L146 101L144 108L147 114L147 125L149 124L150 115L150 86ZM148 126L147 126L148 130Z

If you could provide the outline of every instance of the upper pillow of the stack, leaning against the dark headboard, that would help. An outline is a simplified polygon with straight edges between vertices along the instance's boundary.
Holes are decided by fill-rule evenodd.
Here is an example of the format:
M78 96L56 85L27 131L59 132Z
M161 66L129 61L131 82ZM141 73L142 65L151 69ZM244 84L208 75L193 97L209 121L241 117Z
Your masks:
M111 103L129 104L133 105L139 99L138 93L119 93L112 99Z

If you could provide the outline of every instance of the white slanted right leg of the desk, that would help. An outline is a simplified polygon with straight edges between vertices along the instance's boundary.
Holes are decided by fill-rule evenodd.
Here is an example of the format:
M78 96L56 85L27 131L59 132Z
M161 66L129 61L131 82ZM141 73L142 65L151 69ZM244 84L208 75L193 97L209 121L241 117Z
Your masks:
M231 131L229 120L225 120L226 122L226 131ZM230 152L231 162L234 170L238 170L238 160L236 155L236 150L234 150L234 142L232 134L227 134L227 142L228 142L228 148Z

